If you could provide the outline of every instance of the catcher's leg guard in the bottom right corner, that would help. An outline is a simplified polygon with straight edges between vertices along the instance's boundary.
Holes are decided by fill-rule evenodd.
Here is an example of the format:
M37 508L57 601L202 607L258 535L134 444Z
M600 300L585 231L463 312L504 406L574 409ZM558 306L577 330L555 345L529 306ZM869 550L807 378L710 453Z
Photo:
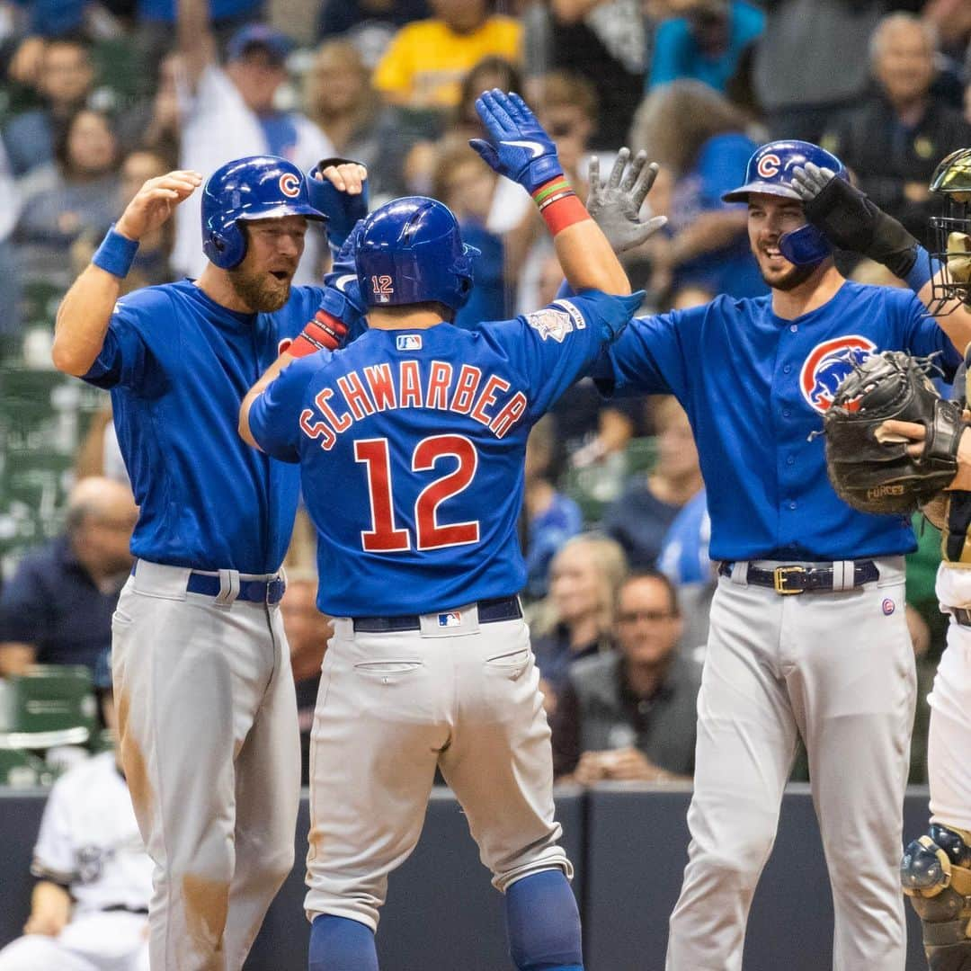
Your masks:
M930 971L971 971L971 833L932 823L900 862Z

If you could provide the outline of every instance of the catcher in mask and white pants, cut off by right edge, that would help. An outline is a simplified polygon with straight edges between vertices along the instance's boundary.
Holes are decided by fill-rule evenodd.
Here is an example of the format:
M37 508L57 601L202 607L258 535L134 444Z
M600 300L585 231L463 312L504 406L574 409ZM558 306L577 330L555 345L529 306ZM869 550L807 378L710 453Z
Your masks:
M971 307L971 149L955 151L938 166L930 189L944 197L950 212L931 219L942 272L934 297L942 310L967 315ZM964 308L954 306L963 300ZM971 349L969 349L971 351ZM969 363L965 353L965 364ZM966 380L966 379L965 379ZM961 393L969 399L969 388ZM887 421L891 435L903 435L921 454L921 424ZM951 615L948 646L928 696L930 729L927 768L930 829L914 840L900 865L904 892L923 922L923 943L931 971L971 971L971 429L961 435L958 472L946 501L925 508L944 530L943 561L937 572L941 610Z

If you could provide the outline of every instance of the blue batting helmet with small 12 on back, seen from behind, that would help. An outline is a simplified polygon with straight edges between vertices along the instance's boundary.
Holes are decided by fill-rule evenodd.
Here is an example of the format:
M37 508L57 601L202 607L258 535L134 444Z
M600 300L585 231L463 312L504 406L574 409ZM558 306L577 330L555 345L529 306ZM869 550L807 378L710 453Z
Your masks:
M472 262L452 210L407 195L365 218L357 240L357 282L368 307L437 301L452 310L472 292Z

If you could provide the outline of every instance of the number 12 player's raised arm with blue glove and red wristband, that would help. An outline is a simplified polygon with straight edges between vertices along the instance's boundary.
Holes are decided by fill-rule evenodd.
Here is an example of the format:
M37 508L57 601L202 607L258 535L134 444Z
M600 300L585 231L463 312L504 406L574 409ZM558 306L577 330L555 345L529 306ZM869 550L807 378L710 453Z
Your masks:
M469 143L487 165L522 185L539 206L567 283L575 290L630 293L607 237L563 175L556 147L518 94L497 89L476 101L488 139Z

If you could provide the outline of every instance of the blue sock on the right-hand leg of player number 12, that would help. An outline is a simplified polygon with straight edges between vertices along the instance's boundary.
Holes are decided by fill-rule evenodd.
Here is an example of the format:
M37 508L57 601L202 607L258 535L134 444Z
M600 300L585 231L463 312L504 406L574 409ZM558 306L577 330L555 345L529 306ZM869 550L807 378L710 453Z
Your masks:
M519 971L583 971L580 912L562 870L542 870L509 887L506 926Z

